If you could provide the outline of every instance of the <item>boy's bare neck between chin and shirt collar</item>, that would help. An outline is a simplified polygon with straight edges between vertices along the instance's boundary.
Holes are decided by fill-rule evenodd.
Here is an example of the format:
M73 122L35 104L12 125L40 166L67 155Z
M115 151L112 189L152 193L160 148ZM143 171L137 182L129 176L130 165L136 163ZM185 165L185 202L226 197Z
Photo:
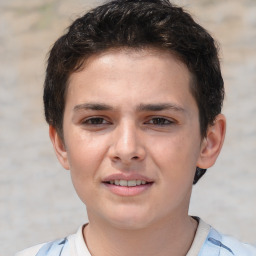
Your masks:
M93 256L184 256L193 242L197 221L180 216L141 229L122 229L90 221L84 238Z

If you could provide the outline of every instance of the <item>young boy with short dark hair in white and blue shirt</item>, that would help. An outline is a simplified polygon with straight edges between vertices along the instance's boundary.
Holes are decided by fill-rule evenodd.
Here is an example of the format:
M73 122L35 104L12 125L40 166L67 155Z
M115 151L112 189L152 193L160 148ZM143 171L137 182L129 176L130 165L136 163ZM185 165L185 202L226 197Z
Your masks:
M167 0L116 0L53 46L44 105L89 223L19 256L253 256L188 215L225 135L213 38Z

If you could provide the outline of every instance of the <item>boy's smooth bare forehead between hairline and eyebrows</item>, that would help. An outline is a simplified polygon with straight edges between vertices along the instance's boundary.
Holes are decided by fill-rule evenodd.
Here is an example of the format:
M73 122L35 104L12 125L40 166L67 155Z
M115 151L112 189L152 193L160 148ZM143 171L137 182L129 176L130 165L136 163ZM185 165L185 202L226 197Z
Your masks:
M148 103L174 100L174 96L177 100L184 94L191 96L191 77L186 65L169 51L110 49L92 55L71 74L66 100L88 101L93 97L111 101L111 97L118 97L132 101L138 94Z

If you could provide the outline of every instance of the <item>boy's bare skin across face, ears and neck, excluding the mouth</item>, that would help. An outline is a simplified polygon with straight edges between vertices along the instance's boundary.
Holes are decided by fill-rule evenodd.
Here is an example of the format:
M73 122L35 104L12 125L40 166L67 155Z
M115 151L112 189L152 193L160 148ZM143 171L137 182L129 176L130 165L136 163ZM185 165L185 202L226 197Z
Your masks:
M92 255L188 252L197 228L188 216L195 169L214 164L225 134L220 114L201 137L190 82L182 62L155 49L109 50L70 76L64 142L54 127L50 137L87 207ZM120 195L103 182L112 174L143 175L151 185Z

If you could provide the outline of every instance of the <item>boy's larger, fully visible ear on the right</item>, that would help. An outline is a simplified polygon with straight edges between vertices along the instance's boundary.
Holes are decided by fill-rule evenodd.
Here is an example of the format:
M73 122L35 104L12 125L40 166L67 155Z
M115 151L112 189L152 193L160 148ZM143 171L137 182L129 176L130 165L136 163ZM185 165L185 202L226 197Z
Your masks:
M207 169L214 165L224 142L226 132L226 118L217 115L214 124L207 129L206 137L201 144L200 156L197 167Z

